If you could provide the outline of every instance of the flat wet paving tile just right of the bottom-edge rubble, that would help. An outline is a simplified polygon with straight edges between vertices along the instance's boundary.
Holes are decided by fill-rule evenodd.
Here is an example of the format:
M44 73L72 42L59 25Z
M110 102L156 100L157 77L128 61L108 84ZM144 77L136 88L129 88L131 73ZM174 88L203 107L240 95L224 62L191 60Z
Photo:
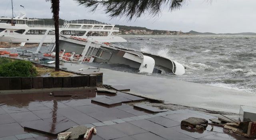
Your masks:
M115 138L126 137L127 135L110 127L110 126L100 126L97 127L97 135L105 140L112 140Z

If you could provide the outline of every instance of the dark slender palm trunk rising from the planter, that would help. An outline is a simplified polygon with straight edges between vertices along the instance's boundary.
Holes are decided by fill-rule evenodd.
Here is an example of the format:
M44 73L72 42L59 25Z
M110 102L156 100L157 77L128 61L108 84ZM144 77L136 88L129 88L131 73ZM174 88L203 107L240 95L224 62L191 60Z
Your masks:
M60 0L52 0L52 12L55 27L55 70L60 70L60 48L59 48L59 12L60 12Z

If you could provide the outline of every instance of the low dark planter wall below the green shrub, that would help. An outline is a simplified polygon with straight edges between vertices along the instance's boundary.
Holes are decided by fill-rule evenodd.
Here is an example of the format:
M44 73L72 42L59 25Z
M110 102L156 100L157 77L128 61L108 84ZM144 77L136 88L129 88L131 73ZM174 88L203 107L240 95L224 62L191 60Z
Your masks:
M74 77L0 77L0 90L95 87L102 81L102 73Z

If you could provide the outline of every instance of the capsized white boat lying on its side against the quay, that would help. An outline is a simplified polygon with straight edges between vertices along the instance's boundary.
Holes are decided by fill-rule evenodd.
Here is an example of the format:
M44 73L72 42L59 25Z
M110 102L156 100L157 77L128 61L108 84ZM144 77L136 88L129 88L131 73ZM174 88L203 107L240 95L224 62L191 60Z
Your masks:
M50 49L54 52L54 45ZM98 62L107 64L125 64L137 68L139 72L182 75L185 68L169 58L123 48L110 43L100 43L74 36L60 36L60 60L66 62Z

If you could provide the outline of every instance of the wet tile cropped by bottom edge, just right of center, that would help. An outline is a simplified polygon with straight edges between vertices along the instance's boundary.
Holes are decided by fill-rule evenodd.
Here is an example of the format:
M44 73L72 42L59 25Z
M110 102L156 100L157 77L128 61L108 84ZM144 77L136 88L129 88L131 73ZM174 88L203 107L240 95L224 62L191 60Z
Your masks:
M164 139L160 136L157 136L156 134L153 134L151 132L136 134L131 137L134 138L134 140L166 140L166 139Z

